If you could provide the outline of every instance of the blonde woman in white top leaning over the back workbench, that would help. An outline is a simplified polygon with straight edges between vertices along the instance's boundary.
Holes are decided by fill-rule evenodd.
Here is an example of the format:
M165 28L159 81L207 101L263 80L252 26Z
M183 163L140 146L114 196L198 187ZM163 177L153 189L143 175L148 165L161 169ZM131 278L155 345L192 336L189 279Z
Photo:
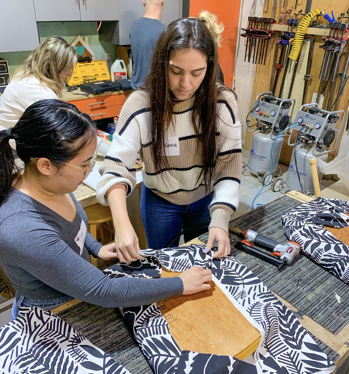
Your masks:
M33 50L0 96L0 130L15 126L34 102L60 98L77 57L75 48L60 36L50 36Z

